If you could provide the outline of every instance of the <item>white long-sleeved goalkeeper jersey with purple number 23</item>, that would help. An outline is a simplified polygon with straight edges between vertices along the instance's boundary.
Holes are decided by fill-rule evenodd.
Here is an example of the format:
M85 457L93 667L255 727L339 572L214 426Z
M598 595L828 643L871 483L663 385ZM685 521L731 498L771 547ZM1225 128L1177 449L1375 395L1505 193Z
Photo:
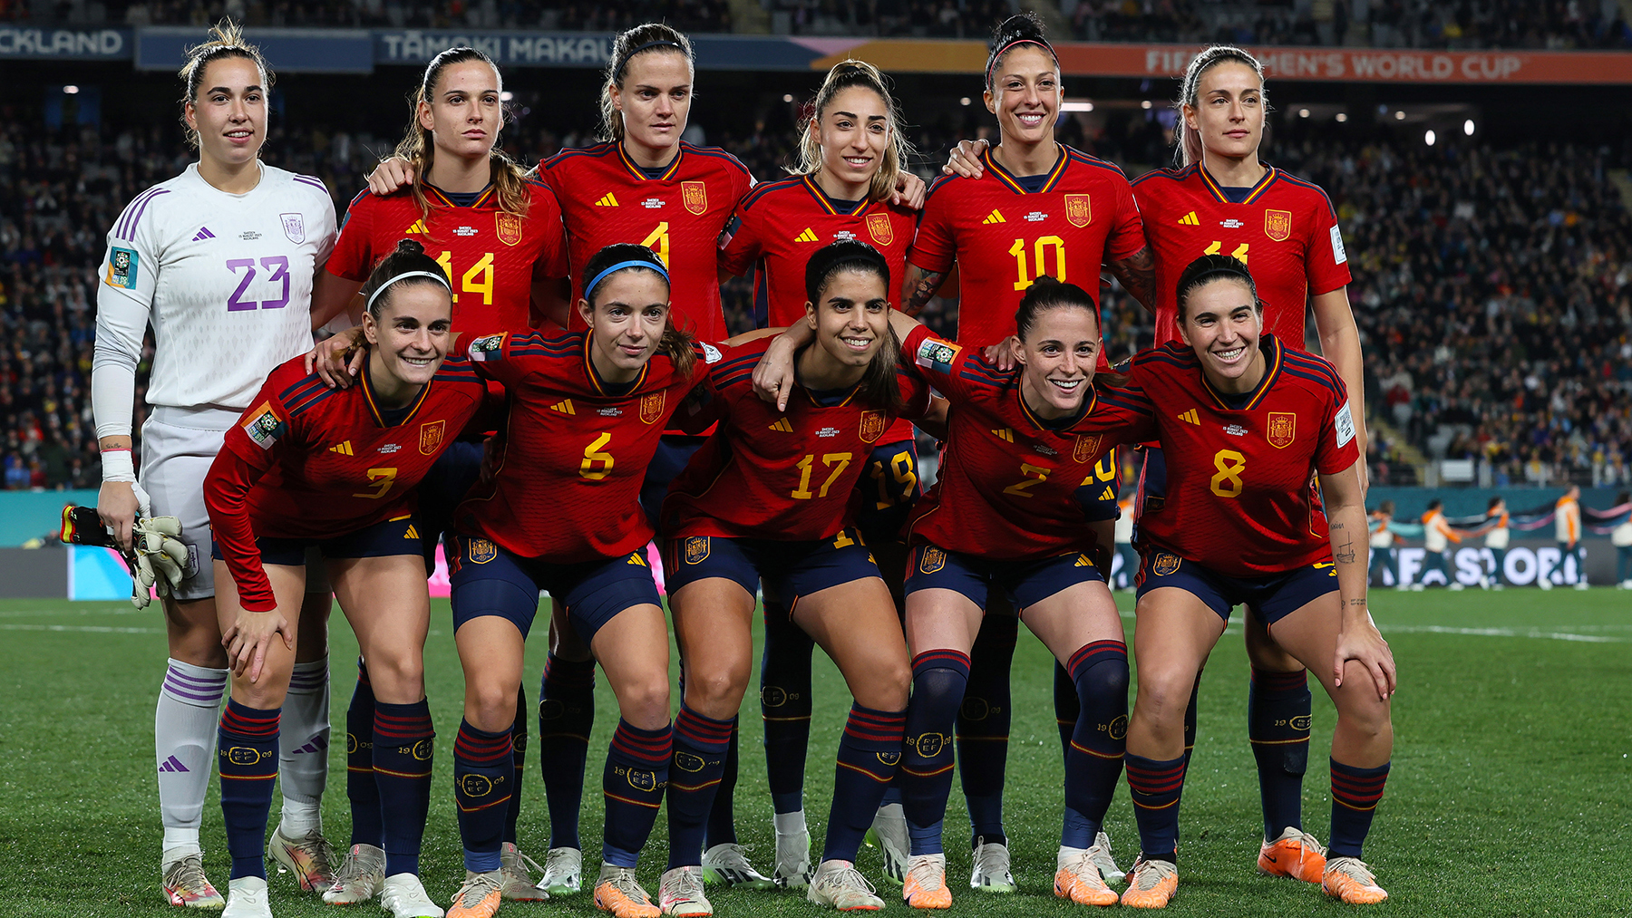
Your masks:
M335 202L317 178L261 163L253 191L228 194L189 165L108 232L98 364L104 352L139 355L152 324L149 404L248 408L274 367L312 347L312 279L335 235Z

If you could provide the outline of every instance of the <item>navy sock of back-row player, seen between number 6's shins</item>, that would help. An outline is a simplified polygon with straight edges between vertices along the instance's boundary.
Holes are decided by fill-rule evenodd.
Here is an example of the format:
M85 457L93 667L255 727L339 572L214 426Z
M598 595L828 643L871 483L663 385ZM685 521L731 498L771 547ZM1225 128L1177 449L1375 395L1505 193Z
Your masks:
M596 662L550 655L539 686L539 773L550 807L550 848L581 848L578 810L594 724Z

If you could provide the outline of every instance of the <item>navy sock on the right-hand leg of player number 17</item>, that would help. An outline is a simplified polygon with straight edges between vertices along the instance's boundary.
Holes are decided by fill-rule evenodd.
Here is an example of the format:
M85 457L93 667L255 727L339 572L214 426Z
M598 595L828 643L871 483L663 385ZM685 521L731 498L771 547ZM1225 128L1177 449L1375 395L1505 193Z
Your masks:
M906 727L906 711L875 711L850 704L850 717L839 737L823 861L855 861L862 836L873 825L878 801L885 797L885 788L901 765Z

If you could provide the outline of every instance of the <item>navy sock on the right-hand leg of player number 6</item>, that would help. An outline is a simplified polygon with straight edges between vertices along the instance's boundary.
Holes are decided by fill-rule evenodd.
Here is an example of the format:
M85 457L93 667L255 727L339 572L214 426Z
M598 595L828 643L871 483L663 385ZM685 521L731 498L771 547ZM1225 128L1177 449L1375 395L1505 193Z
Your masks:
M605 863L615 867L635 866L651 835L651 825L658 822L672 755L672 724L643 730L619 719L607 748L607 766L601 773L601 791L607 801L607 828L601 845Z

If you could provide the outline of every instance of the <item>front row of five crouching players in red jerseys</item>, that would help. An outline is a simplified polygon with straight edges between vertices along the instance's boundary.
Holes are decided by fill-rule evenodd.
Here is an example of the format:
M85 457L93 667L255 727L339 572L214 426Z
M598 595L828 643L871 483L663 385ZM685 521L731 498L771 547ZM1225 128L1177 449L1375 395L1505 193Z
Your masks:
M1245 266L1191 264L1178 284L1190 346L1147 351L1111 380L1093 378L1092 298L1049 279L1015 316L1020 365L999 372L891 310L888 263L863 243L811 258L806 321L780 338L708 344L676 331L667 272L641 246L602 249L586 277L588 331L468 339L449 333L439 266L405 241L364 289L361 385L328 388L292 360L227 435L206 496L217 564L232 574L220 577L233 667L220 778L233 877L261 867L302 558L317 546L375 696L377 794L351 794L353 819L379 827L384 905L442 915L418 877L434 730L413 489L462 430L494 427L485 411L496 382L499 435L454 514L449 553L465 670L454 796L467 877L447 915L485 918L503 898L511 724L540 590L563 602L617 696L594 903L622 918L713 913L698 854L752 669L759 589L854 695L808 877L816 903L885 905L854 863L893 781L911 838L902 895L919 908L951 903L940 840L950 734L994 590L1054 654L1079 701L1061 727L1058 895L1139 907L1173 895L1182 713L1231 608L1245 602L1338 708L1325 889L1346 902L1386 897L1359 858L1387 775L1394 664L1366 613L1355 548L1364 512L1353 422L1328 364L1262 334ZM850 519L865 460L901 417L947 442L940 481L904 528L904 629ZM671 421L716 424L659 519L684 669L672 721L667 626L645 556L654 532L638 504ZM1111 520L1085 507L1103 489L1095 465L1120 444L1151 440L1165 448L1169 481L1165 505L1141 519L1141 680L1129 717L1123 626L1102 577ZM1093 843L1124 763L1142 854L1118 897L1095 863L1108 853ZM664 799L671 853L653 902L635 866ZM269 913L264 885L255 889L250 902L235 882L228 913Z

